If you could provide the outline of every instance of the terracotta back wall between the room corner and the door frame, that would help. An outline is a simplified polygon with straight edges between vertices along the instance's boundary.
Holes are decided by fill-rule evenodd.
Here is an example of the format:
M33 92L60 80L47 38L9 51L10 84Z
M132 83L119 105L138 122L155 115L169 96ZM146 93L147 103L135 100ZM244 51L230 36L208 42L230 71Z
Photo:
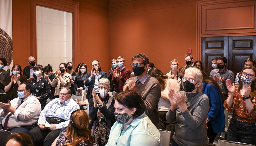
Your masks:
M133 55L143 53L167 73L173 59L178 60L179 67L186 65L187 48L192 48L193 56L197 53L196 1L150 2L153 6L136 2L119 7L110 4L110 59L124 56L128 66Z

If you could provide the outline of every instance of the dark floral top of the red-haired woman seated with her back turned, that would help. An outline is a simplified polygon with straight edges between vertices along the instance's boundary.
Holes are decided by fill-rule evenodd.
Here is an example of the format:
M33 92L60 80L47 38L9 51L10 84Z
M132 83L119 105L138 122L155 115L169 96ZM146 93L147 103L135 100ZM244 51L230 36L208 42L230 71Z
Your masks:
M72 140L71 141L67 141L66 132L67 132L67 128L60 133L60 137L59 137L59 139L56 142L56 146L64 146L65 142L67 144L70 144L72 142ZM83 141L79 142L77 144L77 146L91 146L91 145L90 145L90 143L88 141L84 141L83 140Z

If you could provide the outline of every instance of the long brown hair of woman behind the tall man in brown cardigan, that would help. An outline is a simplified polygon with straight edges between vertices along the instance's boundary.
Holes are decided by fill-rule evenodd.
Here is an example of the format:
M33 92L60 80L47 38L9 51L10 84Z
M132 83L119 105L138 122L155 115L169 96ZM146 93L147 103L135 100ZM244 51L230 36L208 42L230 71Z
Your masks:
M161 70L157 68L151 68L148 71L148 74L152 77L155 77L157 81L161 85L161 89L163 90L166 87L166 80L169 78L167 75L165 75Z

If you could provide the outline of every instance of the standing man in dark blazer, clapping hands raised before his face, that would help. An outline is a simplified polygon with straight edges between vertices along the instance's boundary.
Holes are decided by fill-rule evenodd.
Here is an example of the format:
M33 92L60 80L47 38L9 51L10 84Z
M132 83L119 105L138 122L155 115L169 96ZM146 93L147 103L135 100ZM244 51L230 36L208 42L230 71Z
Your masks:
M99 94L98 81L101 78L107 78L107 73L101 71L99 60L93 60L91 72L87 73L84 81L84 86L88 86L88 92L86 94L88 100L92 98L92 90L94 90L96 94Z

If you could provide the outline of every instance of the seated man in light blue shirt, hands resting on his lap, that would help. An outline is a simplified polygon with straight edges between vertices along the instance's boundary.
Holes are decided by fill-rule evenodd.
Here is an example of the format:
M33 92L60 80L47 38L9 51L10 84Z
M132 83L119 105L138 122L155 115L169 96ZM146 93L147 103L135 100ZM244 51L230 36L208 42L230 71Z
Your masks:
M59 136L60 129L68 126L71 113L79 109L78 104L70 96L70 89L62 88L59 98L53 99L44 107L39 116L38 127L28 133L34 146L51 145Z

